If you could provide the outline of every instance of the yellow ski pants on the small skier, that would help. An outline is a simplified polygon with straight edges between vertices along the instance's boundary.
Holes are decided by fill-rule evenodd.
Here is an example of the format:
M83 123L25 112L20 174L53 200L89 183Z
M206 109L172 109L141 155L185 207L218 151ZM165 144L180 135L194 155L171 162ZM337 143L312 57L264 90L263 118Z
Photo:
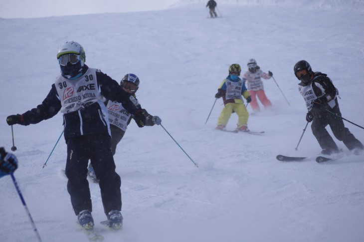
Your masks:
M229 118L234 111L238 115L237 127L248 124L249 113L245 108L244 103L227 103L222 109L219 118L217 119L217 125L225 125L229 121Z

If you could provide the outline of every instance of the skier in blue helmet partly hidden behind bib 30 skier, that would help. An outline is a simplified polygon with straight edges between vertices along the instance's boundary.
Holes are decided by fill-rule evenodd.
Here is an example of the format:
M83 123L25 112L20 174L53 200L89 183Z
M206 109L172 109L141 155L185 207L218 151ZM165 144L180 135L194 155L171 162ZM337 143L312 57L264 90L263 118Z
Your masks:
M136 98L135 93L139 89L139 84L139 77L133 73L126 74L120 82L120 86L124 89L124 91L132 94L134 98ZM116 146L123 138L127 126L134 116L123 107L122 103L118 103L117 101L106 100L105 105L108 111L108 118L110 122L111 152L113 155L115 155ZM152 116L148 114L147 111L145 112L147 114L145 126L153 126L155 124L160 125L162 123L162 120L158 116ZM94 181L98 181L91 163L88 167L88 175Z

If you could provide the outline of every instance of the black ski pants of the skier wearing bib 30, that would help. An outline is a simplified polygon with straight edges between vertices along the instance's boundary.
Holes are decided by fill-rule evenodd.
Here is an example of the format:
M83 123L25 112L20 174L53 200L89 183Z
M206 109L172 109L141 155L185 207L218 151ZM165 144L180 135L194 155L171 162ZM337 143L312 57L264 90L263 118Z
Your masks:
M73 210L78 215L82 210L92 211L91 194L87 181L87 164L91 164L100 179L99 186L105 214L121 211L121 179L115 172L108 134L83 135L68 138L66 176L67 190L71 196Z

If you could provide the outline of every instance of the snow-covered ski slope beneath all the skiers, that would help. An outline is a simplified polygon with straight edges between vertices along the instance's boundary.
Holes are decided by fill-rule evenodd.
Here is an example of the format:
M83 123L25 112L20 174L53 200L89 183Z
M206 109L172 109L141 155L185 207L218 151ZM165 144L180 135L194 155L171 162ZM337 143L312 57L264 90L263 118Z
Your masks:
M315 156L321 151L310 128L295 151L306 125L293 74L300 59L329 74L340 91L343 117L364 125L360 2L333 10L313 9L317 1L311 0L299 8L265 2L272 5L221 4L223 17L217 19L206 18L204 5L196 1L161 11L1 18L0 144L10 150L6 116L41 103L59 74L57 47L75 40L85 48L90 67L118 81L128 72L140 77L142 106L162 118L199 165L193 166L162 127L138 128L132 122L115 155L125 226L110 233L97 224L105 241L363 241L363 156L351 155L338 141L348 156L337 161L275 159L280 153ZM274 73L290 106L276 83L266 80L274 108L248 122L265 136L215 131L221 99L204 125L228 66L240 63L245 69L249 58ZM233 114L228 128L236 122ZM363 129L346 126L364 142ZM36 125L14 126L15 177L43 241L85 241L60 173L66 159L63 137L42 169L61 132L60 113ZM102 221L99 188L90 188L94 219ZM0 179L0 192L1 241L36 241L9 177Z

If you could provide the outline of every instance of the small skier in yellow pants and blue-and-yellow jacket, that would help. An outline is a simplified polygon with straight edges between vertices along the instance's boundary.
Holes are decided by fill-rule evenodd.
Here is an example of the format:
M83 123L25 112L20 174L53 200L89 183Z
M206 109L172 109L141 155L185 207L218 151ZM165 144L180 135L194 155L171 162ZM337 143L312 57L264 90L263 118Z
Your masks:
M245 108L243 97L249 103L251 97L239 75L241 67L239 64L232 64L229 67L229 75L224 79L217 89L215 98L222 97L224 108L217 120L216 129L225 130L226 124L234 111L238 115L237 130L247 132L249 113ZM243 97L242 97L243 96Z

